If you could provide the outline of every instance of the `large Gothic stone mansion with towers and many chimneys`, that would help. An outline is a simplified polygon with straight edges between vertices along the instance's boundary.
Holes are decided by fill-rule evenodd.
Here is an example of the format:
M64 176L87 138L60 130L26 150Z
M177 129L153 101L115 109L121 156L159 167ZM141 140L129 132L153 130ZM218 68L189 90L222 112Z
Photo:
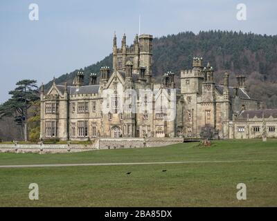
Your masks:
M216 138L277 137L277 109L264 109L246 92L246 77L238 84L217 85L211 64L193 58L191 70L152 79L152 35L136 35L132 47L123 36L113 42L113 66L91 73L84 85L79 71L71 86L41 90L40 137L88 140L96 137L200 137L212 128ZM176 78L181 86L176 87Z

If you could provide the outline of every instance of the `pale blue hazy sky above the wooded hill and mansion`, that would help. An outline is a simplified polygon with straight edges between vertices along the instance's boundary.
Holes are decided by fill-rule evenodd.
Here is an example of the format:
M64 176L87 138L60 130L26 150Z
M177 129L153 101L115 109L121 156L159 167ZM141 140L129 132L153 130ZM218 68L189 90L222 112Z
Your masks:
M39 7L31 21L29 6ZM237 19L237 5L246 20ZM114 32L127 44L139 33L161 37L199 30L242 30L276 35L276 0L1 0L0 103L21 79L40 85L89 66L111 53Z

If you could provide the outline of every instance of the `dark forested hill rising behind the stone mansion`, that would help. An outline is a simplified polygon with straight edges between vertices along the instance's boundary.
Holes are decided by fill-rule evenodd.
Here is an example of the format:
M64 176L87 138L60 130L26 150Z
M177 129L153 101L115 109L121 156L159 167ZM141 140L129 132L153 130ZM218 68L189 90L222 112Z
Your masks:
M228 31L180 32L153 39L153 75L157 82L161 75L171 70L191 68L192 59L201 56L204 64L210 61L215 67L217 84L223 81L223 73L230 73L235 85L235 75L247 76L247 90L251 97L265 102L267 108L277 108L277 36ZM84 67L84 82L89 73L98 73L101 66L111 66L111 54L91 66ZM56 79L57 84L72 83L78 70ZM178 79L179 80L179 79ZM51 82L46 84L46 88Z

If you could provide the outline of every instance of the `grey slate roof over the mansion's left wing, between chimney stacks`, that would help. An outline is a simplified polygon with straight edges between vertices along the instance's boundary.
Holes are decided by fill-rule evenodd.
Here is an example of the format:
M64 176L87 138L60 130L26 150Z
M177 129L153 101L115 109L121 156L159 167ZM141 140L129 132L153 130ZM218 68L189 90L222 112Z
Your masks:
M57 85L57 89L60 90L61 93L64 93L64 86L63 85ZM76 94L97 94L99 90L99 85L85 85L80 86L80 88L76 86L67 86L67 90L69 91L70 95L76 95Z

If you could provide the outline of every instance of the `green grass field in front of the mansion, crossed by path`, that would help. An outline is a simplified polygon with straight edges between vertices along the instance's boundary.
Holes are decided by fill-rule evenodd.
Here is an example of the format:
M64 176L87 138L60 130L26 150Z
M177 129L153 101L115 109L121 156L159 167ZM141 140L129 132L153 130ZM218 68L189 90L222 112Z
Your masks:
M179 161L194 163L0 168L0 206L277 206L276 140L215 141L210 148L186 143L49 155L0 153L0 165ZM34 201L28 199L33 182L39 185ZM247 185L247 200L236 198L241 182Z

